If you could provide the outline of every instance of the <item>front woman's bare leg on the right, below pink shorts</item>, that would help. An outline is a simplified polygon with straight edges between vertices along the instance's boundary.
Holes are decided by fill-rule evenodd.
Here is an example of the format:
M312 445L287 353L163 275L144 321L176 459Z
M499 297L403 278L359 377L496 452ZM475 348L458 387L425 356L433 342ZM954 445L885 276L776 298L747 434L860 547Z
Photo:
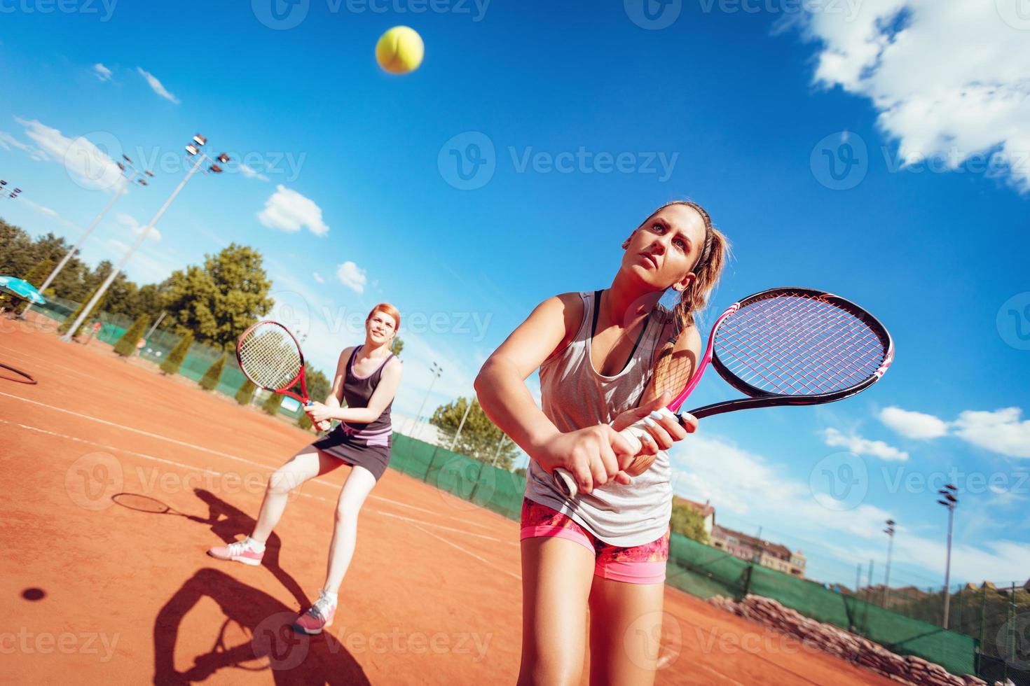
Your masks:
M593 579L590 684L650 686L661 648L664 583Z

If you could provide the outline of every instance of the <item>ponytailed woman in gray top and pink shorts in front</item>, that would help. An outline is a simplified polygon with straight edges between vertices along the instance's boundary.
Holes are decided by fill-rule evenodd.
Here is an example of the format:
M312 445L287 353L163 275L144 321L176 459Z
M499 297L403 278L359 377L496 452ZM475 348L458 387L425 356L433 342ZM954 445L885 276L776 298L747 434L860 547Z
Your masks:
M650 384L661 342L691 369L693 313L705 306L728 243L693 203L655 211L622 244L611 287L548 298L483 365L486 413L529 455L522 503L519 684L578 684L590 612L590 683L651 684L661 628L673 492L665 449L696 428ZM668 289L673 310L660 305ZM525 378L540 369L543 409ZM646 420L640 456L618 431ZM551 473L569 470L569 499ZM634 476L630 478L629 474Z

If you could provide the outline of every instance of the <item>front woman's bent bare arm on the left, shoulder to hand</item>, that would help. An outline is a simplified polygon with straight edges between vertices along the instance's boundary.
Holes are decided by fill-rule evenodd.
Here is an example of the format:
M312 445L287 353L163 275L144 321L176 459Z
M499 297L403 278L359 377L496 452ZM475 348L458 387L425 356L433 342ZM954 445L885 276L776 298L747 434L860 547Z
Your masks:
M544 469L563 467L584 493L615 478L628 483L622 463L633 458L629 444L609 425L561 433L537 407L525 380L576 334L582 317L577 294L540 303L490 355L476 377L476 393L487 417ZM577 306L580 305L580 306Z

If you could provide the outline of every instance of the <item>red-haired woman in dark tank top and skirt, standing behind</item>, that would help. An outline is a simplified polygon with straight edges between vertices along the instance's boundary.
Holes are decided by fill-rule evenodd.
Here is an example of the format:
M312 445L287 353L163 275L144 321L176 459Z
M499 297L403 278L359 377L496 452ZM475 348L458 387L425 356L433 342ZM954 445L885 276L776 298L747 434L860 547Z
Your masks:
M305 634L320 634L333 622L337 592L354 554L357 514L389 462L393 433L390 406L402 373L401 361L390 353L390 344L400 326L401 314L393 305L383 302L372 309L365 321L365 342L340 353L333 390L325 402L305 408L315 426L328 426L331 420L339 420L340 424L272 474L250 536L208 550L218 559L260 565L265 541L282 516L289 492L314 476L350 465L352 469L336 507L325 584L314 604L294 623L294 628ZM342 401L346 401L345 407Z

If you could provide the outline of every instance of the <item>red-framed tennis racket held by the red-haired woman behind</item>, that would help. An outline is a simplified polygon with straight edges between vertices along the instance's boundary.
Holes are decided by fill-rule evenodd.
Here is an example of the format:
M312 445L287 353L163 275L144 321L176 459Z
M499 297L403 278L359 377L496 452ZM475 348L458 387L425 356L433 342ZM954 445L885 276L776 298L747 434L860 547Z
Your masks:
M288 395L305 406L311 404L304 382L301 345L279 322L258 322L244 331L236 344L236 361L243 374L258 388ZM300 394L290 390L298 383ZM322 422L315 428L324 431L329 426L329 422Z

